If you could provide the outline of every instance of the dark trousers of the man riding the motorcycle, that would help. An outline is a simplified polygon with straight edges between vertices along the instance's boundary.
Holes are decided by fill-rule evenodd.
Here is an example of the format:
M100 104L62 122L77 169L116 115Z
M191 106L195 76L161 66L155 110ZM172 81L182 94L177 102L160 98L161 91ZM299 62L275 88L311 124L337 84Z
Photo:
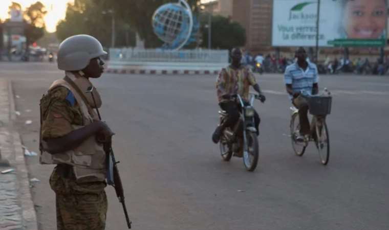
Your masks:
M222 129L225 129L226 127L233 128L233 126L240 118L240 111L242 109L241 105L237 104L234 101L227 101L227 102L219 103L219 106L220 108L225 110L228 114L227 119L223 122L223 124L221 124ZM256 111L254 112L254 122L255 122L256 134L259 135L261 118Z

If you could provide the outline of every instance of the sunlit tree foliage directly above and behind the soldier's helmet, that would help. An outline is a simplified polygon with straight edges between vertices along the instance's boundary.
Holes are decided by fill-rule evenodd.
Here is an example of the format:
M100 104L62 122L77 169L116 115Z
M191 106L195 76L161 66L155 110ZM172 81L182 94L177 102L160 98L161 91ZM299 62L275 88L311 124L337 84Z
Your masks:
M57 25L57 37L64 40L76 34L89 34L96 37L104 47L110 47L113 16L116 47L134 46L135 32L124 20L107 10L102 1L78 0L68 4L66 18Z

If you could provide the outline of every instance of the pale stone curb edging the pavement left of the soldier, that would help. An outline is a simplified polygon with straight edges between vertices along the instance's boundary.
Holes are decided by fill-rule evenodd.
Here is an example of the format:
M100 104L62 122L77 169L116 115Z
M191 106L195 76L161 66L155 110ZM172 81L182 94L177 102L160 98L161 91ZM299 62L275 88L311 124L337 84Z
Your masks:
M12 81L8 82L8 100L9 100L9 116L10 116L10 127L13 129L13 123L16 121L15 116L15 100L12 88ZM28 170L26 166L26 159L23 154L23 147L20 141L20 134L17 131L13 131L11 135L13 139L13 151L15 153L16 171L17 178L19 180L19 201L21 205L21 216L23 217L23 226L28 230L37 230L37 219L32 202L32 196L30 191L30 181L28 178Z

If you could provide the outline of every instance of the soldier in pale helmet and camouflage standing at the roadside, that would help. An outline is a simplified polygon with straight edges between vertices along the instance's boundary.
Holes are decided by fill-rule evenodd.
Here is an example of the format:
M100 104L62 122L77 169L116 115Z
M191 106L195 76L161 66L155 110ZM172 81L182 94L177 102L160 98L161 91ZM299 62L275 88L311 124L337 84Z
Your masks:
M58 68L65 71L40 101L40 163L56 164L50 186L56 195L57 229L105 228L107 212L106 155L104 144L114 134L99 121L94 108L101 99L90 78L103 73L100 42L89 35L64 40L58 51Z

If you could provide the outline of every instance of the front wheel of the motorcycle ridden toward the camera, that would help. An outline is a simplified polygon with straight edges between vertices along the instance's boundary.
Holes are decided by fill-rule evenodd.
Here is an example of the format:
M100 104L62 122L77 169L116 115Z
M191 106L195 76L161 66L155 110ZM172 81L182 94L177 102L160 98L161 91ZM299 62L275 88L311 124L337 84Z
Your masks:
M257 164L258 158L260 155L260 148L258 146L258 137L254 132L246 132L247 137L247 152L243 153L243 164L245 165L247 171L254 171Z

